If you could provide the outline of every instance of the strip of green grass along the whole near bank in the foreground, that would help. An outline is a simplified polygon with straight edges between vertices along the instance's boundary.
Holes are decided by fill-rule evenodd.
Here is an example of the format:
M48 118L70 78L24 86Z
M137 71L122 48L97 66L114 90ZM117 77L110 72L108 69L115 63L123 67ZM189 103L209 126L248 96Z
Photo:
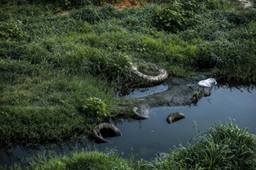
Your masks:
M198 132L194 145L179 145L167 157L147 162L120 157L114 149L105 152L72 152L69 155L38 154L29 166L14 169L256 169L256 137L233 122ZM4 169L4 167L3 167Z

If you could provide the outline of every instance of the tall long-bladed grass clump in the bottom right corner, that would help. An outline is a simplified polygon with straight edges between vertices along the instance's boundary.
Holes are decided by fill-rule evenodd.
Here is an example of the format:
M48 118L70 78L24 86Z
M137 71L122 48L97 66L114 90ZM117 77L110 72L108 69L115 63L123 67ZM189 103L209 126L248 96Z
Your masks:
M180 145L156 169L255 169L256 137L233 123L199 132L194 145Z

